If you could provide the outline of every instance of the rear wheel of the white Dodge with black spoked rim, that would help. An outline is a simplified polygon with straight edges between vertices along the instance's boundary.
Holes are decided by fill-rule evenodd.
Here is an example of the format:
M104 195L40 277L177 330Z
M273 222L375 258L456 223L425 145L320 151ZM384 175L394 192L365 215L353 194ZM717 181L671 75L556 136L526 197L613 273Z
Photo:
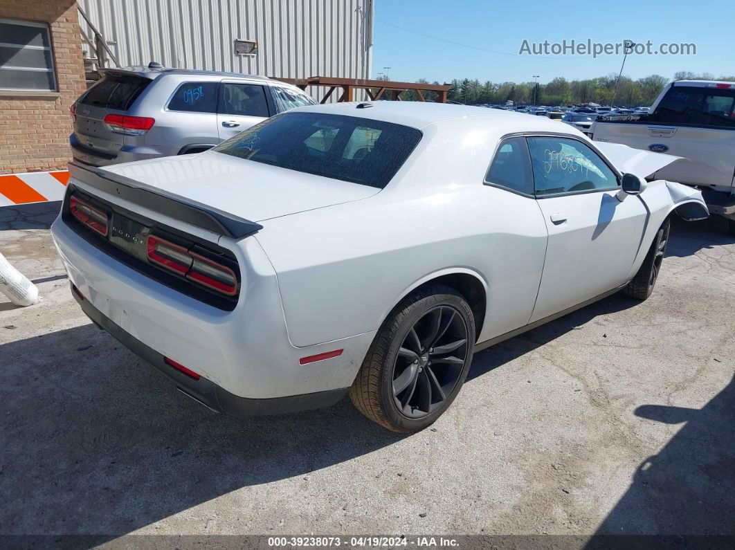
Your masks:
M388 430L423 430L465 383L474 344L475 319L462 294L440 284L421 289L395 306L378 330L350 398Z

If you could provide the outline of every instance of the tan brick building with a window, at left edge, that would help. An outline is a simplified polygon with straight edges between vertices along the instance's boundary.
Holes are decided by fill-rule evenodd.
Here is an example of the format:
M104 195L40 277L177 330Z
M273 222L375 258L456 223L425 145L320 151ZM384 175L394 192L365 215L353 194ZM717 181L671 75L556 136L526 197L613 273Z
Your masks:
M85 90L74 0L0 0L0 173L64 168Z

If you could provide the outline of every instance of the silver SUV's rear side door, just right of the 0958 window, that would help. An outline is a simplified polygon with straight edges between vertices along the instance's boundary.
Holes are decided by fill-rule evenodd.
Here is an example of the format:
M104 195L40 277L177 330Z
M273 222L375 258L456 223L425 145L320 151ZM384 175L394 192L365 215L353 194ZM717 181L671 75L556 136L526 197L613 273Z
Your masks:
M221 82L217 126L222 140L229 140L269 116L265 86L227 80Z

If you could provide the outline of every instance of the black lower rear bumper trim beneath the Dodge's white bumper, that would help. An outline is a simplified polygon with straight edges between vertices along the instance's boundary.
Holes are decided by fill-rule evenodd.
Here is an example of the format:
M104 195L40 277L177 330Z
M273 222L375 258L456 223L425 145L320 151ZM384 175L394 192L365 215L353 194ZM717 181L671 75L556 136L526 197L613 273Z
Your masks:
M72 285L73 290L73 285ZM127 333L110 318L104 316L95 308L89 300L79 296L77 292L71 293L82 311L87 317L102 330L106 330L115 337L123 346L135 353L138 357L148 361L162 374L170 378L176 388L187 396L205 405L207 408L218 413L227 413L240 418L250 416L265 416L269 414L295 413L300 410L329 407L342 399L349 388L340 388L329 391L318 391L313 394L290 395L287 397L275 397L271 399L248 399L231 394L226 389L218 386L207 378L200 377L198 380L174 369L165 362L162 354L151 347L143 344L130 333Z

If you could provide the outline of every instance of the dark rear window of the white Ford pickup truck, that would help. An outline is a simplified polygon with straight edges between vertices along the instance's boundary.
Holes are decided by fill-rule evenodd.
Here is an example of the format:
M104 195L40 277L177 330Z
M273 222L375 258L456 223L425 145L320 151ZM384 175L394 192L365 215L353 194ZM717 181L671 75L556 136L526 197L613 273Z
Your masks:
M646 122L735 128L735 90L674 86Z

